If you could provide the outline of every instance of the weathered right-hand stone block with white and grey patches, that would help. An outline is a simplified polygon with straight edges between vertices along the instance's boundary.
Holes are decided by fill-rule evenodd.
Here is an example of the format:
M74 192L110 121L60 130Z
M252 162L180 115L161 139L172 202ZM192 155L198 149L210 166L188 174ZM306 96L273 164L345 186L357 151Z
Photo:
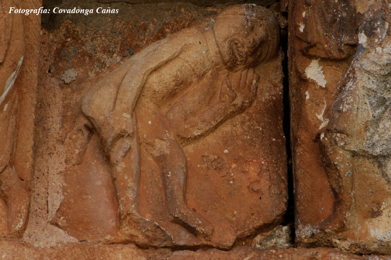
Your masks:
M389 3L290 12L296 242L389 254Z

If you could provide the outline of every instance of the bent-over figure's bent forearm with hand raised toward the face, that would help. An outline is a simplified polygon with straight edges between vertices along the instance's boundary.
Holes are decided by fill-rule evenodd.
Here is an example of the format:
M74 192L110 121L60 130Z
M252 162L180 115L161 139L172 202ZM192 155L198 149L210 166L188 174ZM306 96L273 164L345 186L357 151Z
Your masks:
M218 101L206 110L194 113L202 108L202 104L205 100L208 101L208 97L212 99L211 93L216 89L213 81L202 80L199 86L194 88L195 91L186 93L170 108L167 113L170 126L183 140L197 139L209 133L220 123L244 111L251 104L257 93L258 80L259 76L253 69L227 75L222 81ZM203 95L200 95L199 91Z

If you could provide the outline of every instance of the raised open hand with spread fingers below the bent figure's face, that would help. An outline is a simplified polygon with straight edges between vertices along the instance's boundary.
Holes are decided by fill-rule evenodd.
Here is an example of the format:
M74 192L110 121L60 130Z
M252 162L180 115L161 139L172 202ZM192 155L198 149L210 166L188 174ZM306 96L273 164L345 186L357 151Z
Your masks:
M253 68L234 74L231 86L236 97L231 104L235 110L243 110L252 103L257 95L259 78L260 76L254 72Z

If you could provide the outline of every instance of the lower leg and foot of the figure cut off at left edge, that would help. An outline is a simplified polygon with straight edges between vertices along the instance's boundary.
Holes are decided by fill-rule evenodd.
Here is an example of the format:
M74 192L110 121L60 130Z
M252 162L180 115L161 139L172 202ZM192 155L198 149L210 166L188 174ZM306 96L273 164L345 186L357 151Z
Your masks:
M0 173L0 194L7 207L8 234L22 235L27 223L29 194L15 168L8 164Z

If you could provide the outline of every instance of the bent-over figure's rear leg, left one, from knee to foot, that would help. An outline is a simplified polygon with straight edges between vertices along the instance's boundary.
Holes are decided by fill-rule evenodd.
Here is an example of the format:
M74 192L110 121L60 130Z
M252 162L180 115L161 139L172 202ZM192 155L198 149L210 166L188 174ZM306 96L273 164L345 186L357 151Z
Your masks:
M129 119L132 120L132 119ZM135 116L132 124L136 125ZM118 242L169 245L173 238L153 220L138 212L138 183L140 180L140 150L137 129L131 138L117 140L109 153L112 177L116 187L120 225ZM128 147L125 148L124 147ZM129 148L130 147L130 148Z

